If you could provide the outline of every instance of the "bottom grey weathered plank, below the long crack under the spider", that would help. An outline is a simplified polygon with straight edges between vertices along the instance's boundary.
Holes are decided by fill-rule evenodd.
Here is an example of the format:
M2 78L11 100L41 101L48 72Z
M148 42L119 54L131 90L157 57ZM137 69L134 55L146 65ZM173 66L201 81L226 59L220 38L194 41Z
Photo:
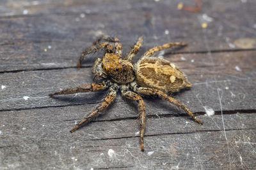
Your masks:
M179 117L148 118L144 153L136 134L138 120L93 122L71 134L68 130L74 122L63 119L69 115L61 108L3 111L1 115L4 118L0 120L2 167L255 167L255 113L223 115L223 118L201 116L205 120L202 126L186 123Z

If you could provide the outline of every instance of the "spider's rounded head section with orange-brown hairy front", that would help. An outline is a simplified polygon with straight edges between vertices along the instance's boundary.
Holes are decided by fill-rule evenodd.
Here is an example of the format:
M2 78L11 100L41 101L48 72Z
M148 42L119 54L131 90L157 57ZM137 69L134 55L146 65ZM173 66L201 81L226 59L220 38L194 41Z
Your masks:
M115 53L106 53L102 60L106 74L116 83L126 84L134 80L134 66Z

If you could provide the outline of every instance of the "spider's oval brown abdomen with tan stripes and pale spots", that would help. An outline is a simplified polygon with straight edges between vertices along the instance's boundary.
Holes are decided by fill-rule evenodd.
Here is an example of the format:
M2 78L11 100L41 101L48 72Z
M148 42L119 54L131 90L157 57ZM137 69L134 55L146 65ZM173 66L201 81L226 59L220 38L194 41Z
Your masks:
M136 64L136 82L141 87L158 89L168 94L191 87L186 75L165 59L148 57Z

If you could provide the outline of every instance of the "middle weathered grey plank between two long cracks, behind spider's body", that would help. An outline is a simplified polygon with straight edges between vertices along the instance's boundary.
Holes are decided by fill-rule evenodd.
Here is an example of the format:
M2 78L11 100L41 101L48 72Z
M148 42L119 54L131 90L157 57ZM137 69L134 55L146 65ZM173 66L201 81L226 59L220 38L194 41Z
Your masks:
M255 110L255 73L251 71L255 69L256 60L253 55L254 52L236 52L232 56L230 53L172 56L173 62L188 73L188 78L194 85L191 90L184 90L174 97L184 102L193 112L204 112L204 106L220 111L220 101L222 110ZM181 60L180 57L186 60ZM236 67L239 67L239 71ZM105 92L60 96L57 99L47 96L60 89L92 82L90 72L91 68L88 67L79 70L56 69L0 74L1 85L6 87L1 90L0 110L99 103ZM26 100L24 96L29 98ZM116 103L124 105L125 101L118 96ZM156 105L159 104L162 105L160 113L164 111L163 108L166 108L166 113L172 110L166 102L154 103L154 100L147 104L148 110L156 110L159 108Z

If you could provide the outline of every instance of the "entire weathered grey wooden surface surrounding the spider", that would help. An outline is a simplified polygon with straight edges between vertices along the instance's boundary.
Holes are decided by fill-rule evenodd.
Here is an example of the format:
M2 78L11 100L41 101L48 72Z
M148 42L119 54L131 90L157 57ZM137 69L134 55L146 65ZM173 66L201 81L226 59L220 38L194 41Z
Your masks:
M179 11L178 3L1 1L0 169L254 169L256 2L202 1L200 13ZM100 32L118 36L125 53L143 35L139 55L168 41L188 42L164 57L188 74L193 88L173 96L204 125L145 99L140 152L137 104L118 96L104 115L68 132L106 92L47 94L92 82L98 55L82 69L76 63Z

